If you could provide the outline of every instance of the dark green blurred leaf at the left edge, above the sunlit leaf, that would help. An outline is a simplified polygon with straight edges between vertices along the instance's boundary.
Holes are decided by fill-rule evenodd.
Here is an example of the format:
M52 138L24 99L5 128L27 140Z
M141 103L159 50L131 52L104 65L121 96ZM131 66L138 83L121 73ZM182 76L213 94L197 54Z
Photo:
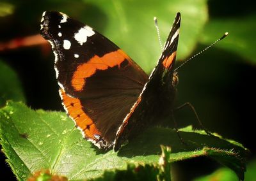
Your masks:
M17 74L1 60L0 82L0 105L5 104L5 101L8 99L12 99L13 101L25 101Z

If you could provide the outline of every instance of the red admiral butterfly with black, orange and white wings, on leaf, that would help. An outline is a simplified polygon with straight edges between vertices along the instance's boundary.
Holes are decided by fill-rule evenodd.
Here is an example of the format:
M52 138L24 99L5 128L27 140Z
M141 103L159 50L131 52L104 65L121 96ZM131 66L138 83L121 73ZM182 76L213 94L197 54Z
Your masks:
M148 75L108 38L64 13L45 11L41 34L55 55L63 106L99 148L118 150L156 117L173 110L179 40L177 13L156 68Z

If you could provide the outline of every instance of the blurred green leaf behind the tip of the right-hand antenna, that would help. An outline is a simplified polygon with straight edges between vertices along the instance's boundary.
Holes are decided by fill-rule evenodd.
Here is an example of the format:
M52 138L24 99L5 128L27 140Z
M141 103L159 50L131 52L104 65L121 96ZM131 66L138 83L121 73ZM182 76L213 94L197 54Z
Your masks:
M205 31L200 43L210 45L218 36L228 31L228 37L219 43L221 47L243 57L246 61L256 64L255 50L255 24L256 14L244 17L215 18L205 25Z

